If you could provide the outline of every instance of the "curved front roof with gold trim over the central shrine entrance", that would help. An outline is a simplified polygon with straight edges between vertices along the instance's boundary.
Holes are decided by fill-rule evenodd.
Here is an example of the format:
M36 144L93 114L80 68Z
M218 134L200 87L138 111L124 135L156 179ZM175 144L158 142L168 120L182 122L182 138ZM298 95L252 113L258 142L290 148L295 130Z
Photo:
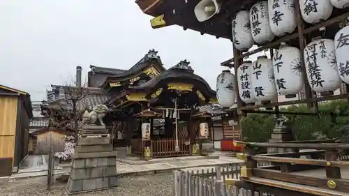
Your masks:
M197 84L195 86L202 86L201 89L207 95L216 97L216 91L212 90L202 77L194 74L193 68L189 66L189 62L186 60L180 61L177 65L172 66L172 68L165 70L161 75L144 82L140 86L131 86L127 91L144 91L149 93L162 82L190 82Z

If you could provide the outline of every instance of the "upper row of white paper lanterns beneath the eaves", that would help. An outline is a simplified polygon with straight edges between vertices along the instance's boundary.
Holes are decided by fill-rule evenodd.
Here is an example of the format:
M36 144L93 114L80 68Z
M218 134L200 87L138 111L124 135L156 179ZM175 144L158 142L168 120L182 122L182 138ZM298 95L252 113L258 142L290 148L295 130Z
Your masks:
M239 11L232 20L234 47L247 51L254 43L270 42L275 36L285 36L297 27L295 1L269 0L255 3L249 12ZM309 24L327 20L333 7L346 8L349 0L299 0L302 18Z

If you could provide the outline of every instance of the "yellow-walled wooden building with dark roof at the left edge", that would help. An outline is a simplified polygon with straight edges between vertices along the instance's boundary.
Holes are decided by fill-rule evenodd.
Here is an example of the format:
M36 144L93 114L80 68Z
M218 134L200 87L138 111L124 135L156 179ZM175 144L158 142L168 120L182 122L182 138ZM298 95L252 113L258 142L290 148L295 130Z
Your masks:
M0 85L0 176L10 176L27 156L32 118L29 93Z

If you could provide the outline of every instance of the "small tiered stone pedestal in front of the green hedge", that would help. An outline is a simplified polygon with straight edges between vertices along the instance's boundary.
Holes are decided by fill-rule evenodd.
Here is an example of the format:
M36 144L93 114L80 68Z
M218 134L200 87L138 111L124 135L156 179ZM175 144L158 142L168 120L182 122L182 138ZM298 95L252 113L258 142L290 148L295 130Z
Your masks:
M287 119L282 116L279 119L276 119L276 124L272 133L272 138L269 142L287 142L294 141L295 137L293 135L292 129L288 127ZM284 148L268 148L267 153L286 153L293 152L292 149Z

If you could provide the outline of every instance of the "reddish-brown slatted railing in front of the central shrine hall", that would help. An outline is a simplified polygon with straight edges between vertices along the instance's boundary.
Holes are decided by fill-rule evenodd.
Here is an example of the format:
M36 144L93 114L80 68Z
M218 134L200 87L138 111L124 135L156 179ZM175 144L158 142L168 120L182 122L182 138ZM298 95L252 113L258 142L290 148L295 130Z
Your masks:
M175 140L173 138L151 140L151 157L184 156L191 153L191 145L185 144L186 140L179 139L179 151L175 151Z

